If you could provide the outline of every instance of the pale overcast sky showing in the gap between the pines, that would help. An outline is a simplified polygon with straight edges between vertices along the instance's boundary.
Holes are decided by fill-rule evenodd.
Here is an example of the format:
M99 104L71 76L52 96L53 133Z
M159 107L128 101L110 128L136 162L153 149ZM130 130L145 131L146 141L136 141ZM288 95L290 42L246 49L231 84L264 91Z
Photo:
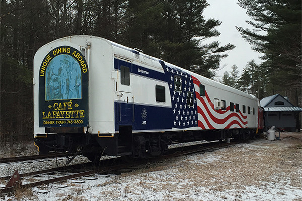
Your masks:
M236 47L227 52L229 55L225 59L222 59L220 66L225 65L225 67L217 71L217 76L222 78L225 71L231 71L231 66L234 64L238 66L240 74L243 68L252 59L255 60L257 64L261 63L259 59L260 53L254 52L251 49L251 45L246 42L237 31L235 26L243 28L251 28L245 21L249 20L249 16L245 13L246 10L242 9L238 4L237 0L207 0L210 4L204 10L205 19L214 18L216 20L222 21L222 24L217 28L221 33L219 37L208 39L205 42L219 41L220 45L225 45L231 43ZM218 77L219 78L219 77Z

